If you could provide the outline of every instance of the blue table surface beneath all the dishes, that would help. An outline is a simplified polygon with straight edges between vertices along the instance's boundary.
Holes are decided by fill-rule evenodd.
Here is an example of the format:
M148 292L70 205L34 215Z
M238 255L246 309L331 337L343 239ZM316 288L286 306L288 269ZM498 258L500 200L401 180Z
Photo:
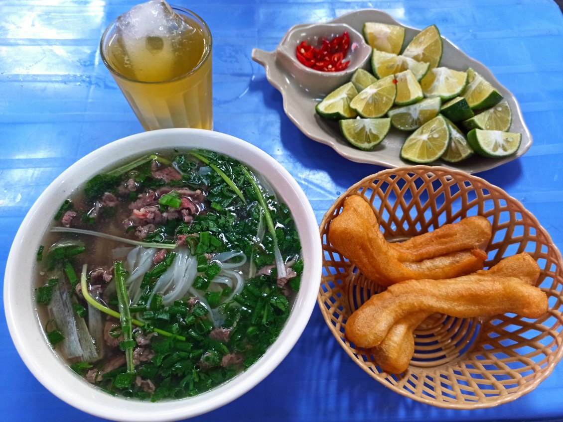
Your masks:
M382 168L347 161L303 135L282 96L251 60L294 24L376 8L444 37L488 66L517 101L534 143L479 176L501 186L563 246L563 15L553 0L178 0L213 33L215 130L257 145L285 165L320 222L346 188ZM0 2L0 271L17 228L45 187L77 159L141 125L102 64L108 23L135 2ZM560 179L561 178L561 179ZM3 279L3 276L2 276ZM2 294L2 293L0 293ZM2 301L3 303L3 301ZM45 389L26 369L0 314L0 420L97 421ZM404 398L353 363L318 308L271 375L195 421L563 420L563 364L533 392L495 408L445 410Z

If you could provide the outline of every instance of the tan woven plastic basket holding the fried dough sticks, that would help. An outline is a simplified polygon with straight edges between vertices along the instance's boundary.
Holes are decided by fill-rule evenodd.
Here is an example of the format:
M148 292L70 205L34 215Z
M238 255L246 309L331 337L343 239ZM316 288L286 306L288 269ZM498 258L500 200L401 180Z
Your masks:
M538 320L514 314L453 318L434 314L415 330L415 353L400 375L382 372L368 351L345 338L348 316L384 288L368 280L328 242L330 222L343 200L361 195L372 204L388 240L401 240L468 216L493 226L485 268L528 252L541 274L549 311ZM446 408L483 408L512 401L551 374L563 354L563 263L546 230L522 204L484 179L443 167L403 167L364 178L342 194L320 225L323 277L318 303L346 353L397 393Z

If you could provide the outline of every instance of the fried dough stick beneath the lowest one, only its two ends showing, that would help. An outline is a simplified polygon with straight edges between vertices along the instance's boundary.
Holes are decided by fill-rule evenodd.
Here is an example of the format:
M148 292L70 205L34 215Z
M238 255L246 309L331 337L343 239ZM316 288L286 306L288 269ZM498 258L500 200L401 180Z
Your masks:
M477 271L476 275L517 275L523 282L533 285L539 273L535 260L527 253L521 253L502 259L489 270ZM407 369L414 354L414 330L430 315L427 311L409 313L397 321L383 341L372 349L374 360L383 371L400 374Z

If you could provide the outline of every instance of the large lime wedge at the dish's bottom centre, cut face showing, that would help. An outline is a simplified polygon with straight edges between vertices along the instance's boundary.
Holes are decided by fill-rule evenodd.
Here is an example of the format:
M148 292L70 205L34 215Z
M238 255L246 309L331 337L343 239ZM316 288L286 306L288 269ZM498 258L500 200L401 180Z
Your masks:
M443 116L437 115L408 138L401 147L401 158L414 163L431 163L448 149L450 131Z

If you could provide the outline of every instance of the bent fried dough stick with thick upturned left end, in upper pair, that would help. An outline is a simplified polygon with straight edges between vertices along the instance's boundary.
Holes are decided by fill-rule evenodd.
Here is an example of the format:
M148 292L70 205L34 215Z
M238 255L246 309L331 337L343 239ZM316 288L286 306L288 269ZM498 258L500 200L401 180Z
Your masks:
M397 253L393 244L387 243L379 230L372 208L358 195L346 198L342 212L330 223L328 239L366 277L383 286L413 279L450 279L480 270L486 259L486 254L473 245L471 249L418 262L401 262L401 254ZM426 239L427 243L431 237ZM413 241L410 244L418 243Z

